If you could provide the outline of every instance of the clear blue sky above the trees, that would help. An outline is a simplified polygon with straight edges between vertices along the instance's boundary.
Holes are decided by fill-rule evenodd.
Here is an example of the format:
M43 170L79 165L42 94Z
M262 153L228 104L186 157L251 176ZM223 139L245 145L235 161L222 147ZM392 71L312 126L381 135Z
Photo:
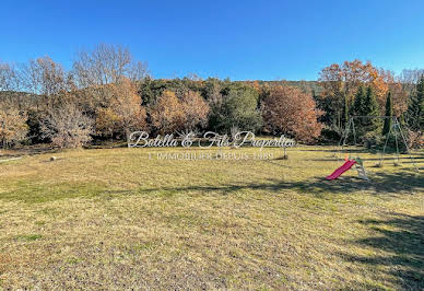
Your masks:
M154 78L315 80L321 68L370 60L424 68L424 1L0 2L0 60L121 44Z

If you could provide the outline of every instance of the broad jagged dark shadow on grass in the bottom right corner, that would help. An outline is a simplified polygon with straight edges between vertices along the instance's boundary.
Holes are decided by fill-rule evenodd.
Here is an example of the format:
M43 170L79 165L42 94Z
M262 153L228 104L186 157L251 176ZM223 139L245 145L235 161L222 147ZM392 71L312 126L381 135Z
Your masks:
M384 267L400 289L424 290L424 216L391 214L387 220L360 222L377 234L353 244L372 247L381 255L341 256L349 261Z

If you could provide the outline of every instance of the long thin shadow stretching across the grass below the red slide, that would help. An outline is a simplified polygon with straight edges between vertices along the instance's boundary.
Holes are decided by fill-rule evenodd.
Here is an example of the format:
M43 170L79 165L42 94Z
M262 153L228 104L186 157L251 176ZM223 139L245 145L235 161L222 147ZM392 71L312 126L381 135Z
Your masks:
M356 177L341 177L335 181L327 181L323 177L315 177L306 182L285 182L269 179L263 183L222 184L217 186L179 186L142 188L142 193L161 191L164 194L177 194L180 191L220 191L224 195L243 190L263 190L279 194L284 190L297 190L299 193L322 197L325 194L352 194L360 190L374 191L376 195L414 194L424 191L424 178L415 173L389 174L379 173L373 181L363 181Z

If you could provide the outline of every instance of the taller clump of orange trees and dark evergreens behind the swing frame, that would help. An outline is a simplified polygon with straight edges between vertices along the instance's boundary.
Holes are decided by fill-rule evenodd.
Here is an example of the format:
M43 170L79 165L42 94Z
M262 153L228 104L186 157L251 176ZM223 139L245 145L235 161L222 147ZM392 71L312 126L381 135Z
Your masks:
M320 121L326 125L322 137L340 137L351 116L367 116L356 124L360 141L381 143L390 132L392 119L382 123L369 117L391 116L405 128L411 147L423 146L424 70L403 70L394 75L369 61L353 60L323 68L318 82L322 91L316 101L325 112Z

